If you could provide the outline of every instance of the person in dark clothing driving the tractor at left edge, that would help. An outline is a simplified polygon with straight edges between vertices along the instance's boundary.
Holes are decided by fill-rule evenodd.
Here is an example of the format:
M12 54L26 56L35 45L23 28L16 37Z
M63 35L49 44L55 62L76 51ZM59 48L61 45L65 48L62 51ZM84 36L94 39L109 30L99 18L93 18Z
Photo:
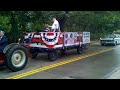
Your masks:
M0 30L0 53L2 53L4 48L8 45L8 39L4 34L4 31Z

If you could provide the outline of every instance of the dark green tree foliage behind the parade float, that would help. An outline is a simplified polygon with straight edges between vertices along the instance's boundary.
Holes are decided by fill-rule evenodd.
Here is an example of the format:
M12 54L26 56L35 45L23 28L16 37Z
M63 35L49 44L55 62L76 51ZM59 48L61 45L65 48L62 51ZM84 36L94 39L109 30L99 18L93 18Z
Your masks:
M17 42L23 32L43 31L54 16L61 31L90 31L92 39L120 30L120 11L0 11L0 29Z

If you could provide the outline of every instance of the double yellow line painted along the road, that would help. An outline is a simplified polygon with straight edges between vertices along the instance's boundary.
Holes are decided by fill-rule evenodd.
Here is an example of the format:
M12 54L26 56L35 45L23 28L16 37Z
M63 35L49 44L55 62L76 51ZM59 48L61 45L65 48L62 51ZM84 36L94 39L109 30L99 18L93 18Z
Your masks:
M107 50L102 50L102 51L92 53L92 54L88 54L88 55L85 55L85 56L72 58L72 59L69 59L69 60L66 60L66 61L58 62L58 63L51 64L51 65L48 65L48 66L44 66L44 67L41 67L41 68L38 68L38 69L35 69L35 70L30 70L28 72L21 73L21 74L15 75L15 76L11 76L11 77L8 77L6 79L20 79L20 78L23 78L23 77L26 77L26 76L29 76L29 75L32 75L32 74L39 73L41 71L45 71L45 70L48 70L48 69L51 69L51 68L54 68L54 67L57 67L57 66L65 65L65 64L68 64L68 63L71 63L71 62L74 62L74 61L82 60L84 58L95 56L97 54L101 54L101 53L104 53L104 52L107 52L107 51L110 51L110 50L113 50L113 49L114 48L110 48L110 49L107 49Z

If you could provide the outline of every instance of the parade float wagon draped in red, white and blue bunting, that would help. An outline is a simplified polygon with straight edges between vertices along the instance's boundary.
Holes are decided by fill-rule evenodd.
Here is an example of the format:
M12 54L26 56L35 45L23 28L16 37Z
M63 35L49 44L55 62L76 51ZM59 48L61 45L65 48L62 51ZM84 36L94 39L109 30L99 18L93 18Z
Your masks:
M62 54L66 50L77 49L81 54L83 48L90 43L90 32L31 32L26 33L23 46L29 49L32 58L39 53L48 53L51 61L57 59L57 50Z

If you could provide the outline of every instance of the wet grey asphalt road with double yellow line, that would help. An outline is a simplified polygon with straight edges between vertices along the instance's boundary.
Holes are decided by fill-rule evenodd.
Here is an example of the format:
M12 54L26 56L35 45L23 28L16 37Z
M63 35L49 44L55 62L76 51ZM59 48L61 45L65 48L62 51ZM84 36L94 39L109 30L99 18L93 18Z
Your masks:
M54 62L41 54L36 59L29 59L25 69L19 72L0 67L0 79L102 79L109 77L119 66L120 45L102 47L94 43L81 55L70 50Z

